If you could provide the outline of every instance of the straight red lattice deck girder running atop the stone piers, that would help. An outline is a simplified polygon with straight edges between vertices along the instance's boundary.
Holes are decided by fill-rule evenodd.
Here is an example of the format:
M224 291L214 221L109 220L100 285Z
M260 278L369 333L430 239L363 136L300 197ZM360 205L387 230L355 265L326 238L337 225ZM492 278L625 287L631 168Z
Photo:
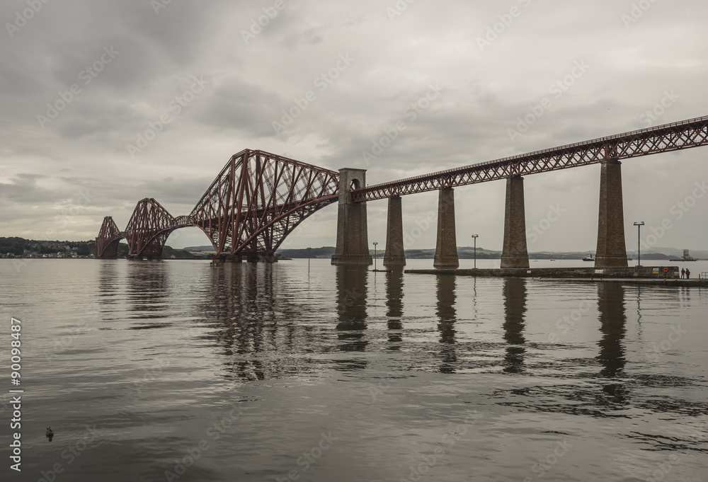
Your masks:
M352 200L373 201L705 145L708 145L708 116L371 185L353 190Z

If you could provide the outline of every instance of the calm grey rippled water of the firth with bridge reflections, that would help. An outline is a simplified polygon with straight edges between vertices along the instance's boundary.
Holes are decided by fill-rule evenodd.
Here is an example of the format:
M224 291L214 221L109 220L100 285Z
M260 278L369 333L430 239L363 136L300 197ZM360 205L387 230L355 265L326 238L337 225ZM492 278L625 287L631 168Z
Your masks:
M19 268L0 261L25 390L7 480L707 480L700 287L329 260Z

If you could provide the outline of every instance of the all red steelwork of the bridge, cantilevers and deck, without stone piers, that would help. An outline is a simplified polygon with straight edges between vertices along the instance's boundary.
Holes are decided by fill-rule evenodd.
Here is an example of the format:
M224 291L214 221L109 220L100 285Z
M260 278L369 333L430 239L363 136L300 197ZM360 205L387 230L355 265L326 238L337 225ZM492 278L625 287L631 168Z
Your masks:
M342 192L358 203L705 145L708 116ZM339 173L246 149L229 159L190 214L173 217L145 198L124 231L105 217L93 251L115 257L126 239L130 256L159 257L172 231L198 226L219 255L273 256L299 223L340 197Z

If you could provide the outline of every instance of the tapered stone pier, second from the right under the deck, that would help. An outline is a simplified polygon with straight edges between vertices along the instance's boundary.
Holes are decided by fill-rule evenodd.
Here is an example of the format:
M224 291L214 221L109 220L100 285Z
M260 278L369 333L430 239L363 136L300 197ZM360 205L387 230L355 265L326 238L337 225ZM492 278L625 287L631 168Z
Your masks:
M524 208L524 178L506 179L506 208L504 214L504 246L501 268L529 268L526 246L526 212Z

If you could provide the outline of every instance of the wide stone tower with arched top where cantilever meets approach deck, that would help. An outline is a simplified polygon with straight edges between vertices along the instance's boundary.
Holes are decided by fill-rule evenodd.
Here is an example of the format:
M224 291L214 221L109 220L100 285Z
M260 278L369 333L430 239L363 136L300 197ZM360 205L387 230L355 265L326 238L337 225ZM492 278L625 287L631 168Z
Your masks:
M371 265L366 224L366 202L352 202L351 190L366 185L366 169L339 170L337 246L333 265Z

